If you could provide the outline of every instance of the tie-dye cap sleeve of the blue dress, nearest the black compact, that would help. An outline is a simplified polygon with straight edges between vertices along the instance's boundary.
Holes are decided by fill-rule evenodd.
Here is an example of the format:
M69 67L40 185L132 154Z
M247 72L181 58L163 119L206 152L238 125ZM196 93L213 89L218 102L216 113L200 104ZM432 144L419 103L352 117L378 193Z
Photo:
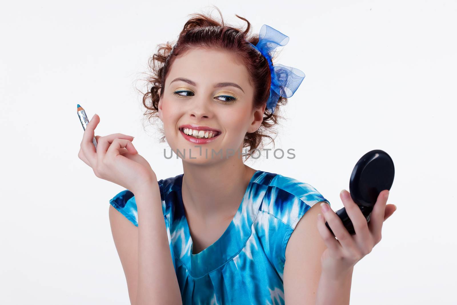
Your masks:
M329 201L311 184L276 174L271 180L260 210L295 228L298 220L315 203Z

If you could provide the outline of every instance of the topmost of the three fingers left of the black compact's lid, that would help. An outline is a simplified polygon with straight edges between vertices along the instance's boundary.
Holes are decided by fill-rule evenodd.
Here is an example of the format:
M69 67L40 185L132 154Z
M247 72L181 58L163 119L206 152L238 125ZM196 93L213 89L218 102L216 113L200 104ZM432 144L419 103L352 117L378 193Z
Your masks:
M357 244L361 246L365 241L371 239L367 219L363 216L359 206L352 200L351 194L348 191L342 190L340 198L345 206L347 215L351 219L352 225L354 225L354 230L356 231L354 238Z

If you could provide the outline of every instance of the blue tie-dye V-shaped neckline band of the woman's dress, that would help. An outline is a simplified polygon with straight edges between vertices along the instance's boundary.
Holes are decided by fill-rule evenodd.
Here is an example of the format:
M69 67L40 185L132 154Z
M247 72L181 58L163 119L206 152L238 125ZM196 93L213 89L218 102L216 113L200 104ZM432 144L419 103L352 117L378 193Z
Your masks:
M191 240L189 224L184 213L184 204L182 200L182 178L184 174L177 176L175 181L176 207L180 210L181 219L179 226L175 227L173 236L181 242L173 244L175 254L178 259L186 265L191 277L199 278L205 274L219 268L224 263L234 258L244 247L252 233L252 223L259 211L260 203L266 193L264 180L269 176L265 171L257 170L252 175L239 208L232 221L218 238L217 241L207 246L197 254L192 254L193 242ZM271 181L272 177L268 180ZM269 182L266 183L267 185ZM178 230L179 227L179 230ZM175 231L177 230L177 231ZM184 239L186 240L183 240ZM177 241L177 240L176 240Z

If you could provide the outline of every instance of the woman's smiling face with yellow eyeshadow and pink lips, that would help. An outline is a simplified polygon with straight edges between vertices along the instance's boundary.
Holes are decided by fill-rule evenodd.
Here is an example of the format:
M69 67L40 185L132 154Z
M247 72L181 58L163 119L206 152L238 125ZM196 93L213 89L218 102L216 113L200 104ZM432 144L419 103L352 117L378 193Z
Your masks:
M187 162L237 157L246 132L255 132L263 120L265 106L253 109L254 88L246 67L228 51L189 50L171 65L163 90L159 118L165 138ZM186 125L192 135L183 129Z

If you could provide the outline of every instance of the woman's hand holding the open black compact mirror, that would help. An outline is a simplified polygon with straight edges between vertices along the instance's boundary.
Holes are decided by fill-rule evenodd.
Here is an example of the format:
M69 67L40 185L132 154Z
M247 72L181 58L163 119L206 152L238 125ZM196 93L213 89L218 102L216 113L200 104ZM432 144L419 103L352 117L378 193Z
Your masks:
M340 217L335 214L328 203L321 206L324 217L319 219L318 216L317 226L319 234L327 246L321 257L322 273L335 280L345 278L348 273L352 273L356 262L370 253L373 247L381 241L383 222L397 209L393 204L386 204L388 194L388 190L379 193L370 222L367 223L367 219L352 200L350 193L346 190L341 191L340 198L354 225L355 235L349 234ZM329 231L325 221L329 223L335 236Z

